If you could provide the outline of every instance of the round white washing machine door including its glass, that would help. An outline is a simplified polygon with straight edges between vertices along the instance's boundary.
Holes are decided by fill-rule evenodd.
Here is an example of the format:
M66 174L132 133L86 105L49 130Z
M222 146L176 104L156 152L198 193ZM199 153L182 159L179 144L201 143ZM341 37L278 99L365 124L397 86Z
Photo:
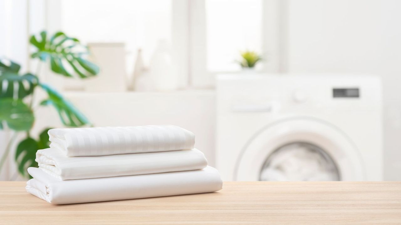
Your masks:
M272 123L256 133L237 160L238 181L365 180L362 157L337 127L314 118Z

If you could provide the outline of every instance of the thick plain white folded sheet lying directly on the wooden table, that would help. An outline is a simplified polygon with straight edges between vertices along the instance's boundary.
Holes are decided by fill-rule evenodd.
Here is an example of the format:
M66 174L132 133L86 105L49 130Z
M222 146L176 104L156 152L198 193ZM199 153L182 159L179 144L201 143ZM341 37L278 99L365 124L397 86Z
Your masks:
M142 199L219 191L219 172L213 167L202 170L154 173L80 180L58 180L39 168L30 167L33 177L26 191L56 205Z

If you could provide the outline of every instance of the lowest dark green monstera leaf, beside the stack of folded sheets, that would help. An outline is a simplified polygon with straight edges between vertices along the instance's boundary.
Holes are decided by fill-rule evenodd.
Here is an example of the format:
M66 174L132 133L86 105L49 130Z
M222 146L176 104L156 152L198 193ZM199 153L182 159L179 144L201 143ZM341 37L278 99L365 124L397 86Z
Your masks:
M22 176L26 177L28 175L26 171L28 167L38 167L38 163L35 161L36 151L49 148L50 141L47 134L49 129L51 128L43 130L38 140L28 137L18 144L15 151L15 161L18 165L18 172Z

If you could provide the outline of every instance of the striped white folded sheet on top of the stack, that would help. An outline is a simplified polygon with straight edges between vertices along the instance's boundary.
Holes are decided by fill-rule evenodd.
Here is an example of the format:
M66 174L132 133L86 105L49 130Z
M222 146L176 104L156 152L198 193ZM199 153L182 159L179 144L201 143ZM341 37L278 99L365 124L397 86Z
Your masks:
M67 156L95 156L193 149L195 135L174 125L49 130L50 147Z

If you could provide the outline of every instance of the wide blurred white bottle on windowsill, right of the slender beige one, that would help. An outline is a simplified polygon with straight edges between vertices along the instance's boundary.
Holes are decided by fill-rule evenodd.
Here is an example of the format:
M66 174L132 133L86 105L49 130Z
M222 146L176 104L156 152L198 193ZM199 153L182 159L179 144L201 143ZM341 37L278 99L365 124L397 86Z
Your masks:
M166 40L160 40L150 60L150 77L156 90L178 89L178 76L174 73L172 54Z

